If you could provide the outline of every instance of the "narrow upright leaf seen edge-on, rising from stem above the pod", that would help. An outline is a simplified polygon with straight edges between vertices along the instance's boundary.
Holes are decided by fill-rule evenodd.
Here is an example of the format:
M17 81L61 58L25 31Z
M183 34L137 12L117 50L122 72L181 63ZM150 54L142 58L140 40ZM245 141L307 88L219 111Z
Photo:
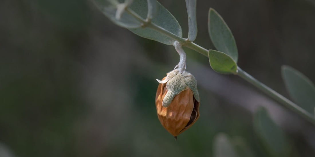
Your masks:
M188 14L188 40L195 41L197 37L196 5L197 0L185 0Z

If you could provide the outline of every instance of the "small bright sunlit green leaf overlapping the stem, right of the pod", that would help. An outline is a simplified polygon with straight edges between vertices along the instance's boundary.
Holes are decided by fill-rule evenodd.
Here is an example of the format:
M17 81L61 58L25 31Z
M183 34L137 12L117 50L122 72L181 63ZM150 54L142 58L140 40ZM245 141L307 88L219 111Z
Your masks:
M221 74L236 74L237 65L234 60L223 52L209 50L208 53L211 68Z

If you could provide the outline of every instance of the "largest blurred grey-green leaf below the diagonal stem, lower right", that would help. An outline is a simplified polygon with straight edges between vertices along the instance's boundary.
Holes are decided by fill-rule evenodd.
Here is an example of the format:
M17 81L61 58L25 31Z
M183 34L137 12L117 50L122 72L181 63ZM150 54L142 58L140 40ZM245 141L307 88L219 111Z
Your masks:
M267 110L260 107L254 117L255 132L270 156L287 156L288 143L280 127L272 121Z

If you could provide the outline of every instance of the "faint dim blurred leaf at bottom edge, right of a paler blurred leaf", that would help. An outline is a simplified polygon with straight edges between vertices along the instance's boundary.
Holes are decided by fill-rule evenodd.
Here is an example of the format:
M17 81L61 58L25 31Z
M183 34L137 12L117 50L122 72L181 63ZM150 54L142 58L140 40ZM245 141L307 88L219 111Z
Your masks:
M239 137L239 136L233 137L232 143L239 156L241 157L255 157L256 156L242 137Z

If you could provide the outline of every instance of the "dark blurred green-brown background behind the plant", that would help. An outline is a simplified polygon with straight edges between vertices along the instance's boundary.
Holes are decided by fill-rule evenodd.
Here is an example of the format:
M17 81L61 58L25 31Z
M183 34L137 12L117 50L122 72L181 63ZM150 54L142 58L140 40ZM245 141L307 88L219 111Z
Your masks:
M184 1L159 2L187 37ZM315 1L199 0L195 43L215 49L210 7L232 30L243 70L288 98L281 65L315 82ZM218 156L231 143L248 156L315 154L311 123L185 50L187 71L198 82L200 118L175 141L155 109L155 79L179 61L173 46L116 26L88 0L1 0L0 156ZM271 128L255 126L258 110L271 117ZM286 142L268 144L265 135Z

